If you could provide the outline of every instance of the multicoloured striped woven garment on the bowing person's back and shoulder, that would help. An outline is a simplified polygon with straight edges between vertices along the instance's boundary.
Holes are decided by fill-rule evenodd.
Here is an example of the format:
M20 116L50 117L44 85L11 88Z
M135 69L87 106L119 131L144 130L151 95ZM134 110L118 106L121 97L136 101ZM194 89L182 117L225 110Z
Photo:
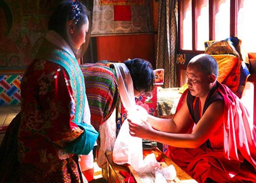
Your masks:
M117 82L114 69L107 65L80 65L85 78L85 92L91 112L91 124L99 131L113 113L119 100Z

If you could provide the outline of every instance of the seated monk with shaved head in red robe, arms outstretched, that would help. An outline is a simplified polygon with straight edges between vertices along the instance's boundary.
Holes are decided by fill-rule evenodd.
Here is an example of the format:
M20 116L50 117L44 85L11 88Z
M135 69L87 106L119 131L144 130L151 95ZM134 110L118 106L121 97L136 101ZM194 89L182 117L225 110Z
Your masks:
M255 182L256 122L217 81L215 59L208 54L193 57L186 77L188 89L174 117L148 115L140 124L128 119L130 134L167 144L164 153L199 183Z

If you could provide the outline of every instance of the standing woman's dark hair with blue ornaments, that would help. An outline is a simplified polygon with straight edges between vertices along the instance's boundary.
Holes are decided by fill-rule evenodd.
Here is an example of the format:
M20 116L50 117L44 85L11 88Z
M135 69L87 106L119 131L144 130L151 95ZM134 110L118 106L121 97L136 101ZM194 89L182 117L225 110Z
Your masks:
M82 2L78 0L62 0L49 18L48 29L56 31L65 39L76 54L78 51L74 48L69 33L68 22L70 20L74 22L78 29L89 21L89 12Z

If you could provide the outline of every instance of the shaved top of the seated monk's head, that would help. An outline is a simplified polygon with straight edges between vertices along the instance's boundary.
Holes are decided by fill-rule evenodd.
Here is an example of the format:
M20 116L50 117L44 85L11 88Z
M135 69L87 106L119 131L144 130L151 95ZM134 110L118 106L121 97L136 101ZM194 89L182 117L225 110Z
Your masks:
M218 77L219 65L209 54L199 54L193 57L189 61L188 65L198 65L203 73L214 74L216 77Z

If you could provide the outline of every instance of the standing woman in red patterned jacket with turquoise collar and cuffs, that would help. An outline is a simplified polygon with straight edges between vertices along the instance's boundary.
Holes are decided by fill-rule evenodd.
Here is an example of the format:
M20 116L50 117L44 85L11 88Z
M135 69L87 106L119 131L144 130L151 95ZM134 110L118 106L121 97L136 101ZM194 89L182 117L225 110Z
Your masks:
M87 182L77 155L88 154L99 133L90 124L76 55L88 26L88 12L77 0L62 1L49 19L49 31L21 83L20 164L12 182Z

